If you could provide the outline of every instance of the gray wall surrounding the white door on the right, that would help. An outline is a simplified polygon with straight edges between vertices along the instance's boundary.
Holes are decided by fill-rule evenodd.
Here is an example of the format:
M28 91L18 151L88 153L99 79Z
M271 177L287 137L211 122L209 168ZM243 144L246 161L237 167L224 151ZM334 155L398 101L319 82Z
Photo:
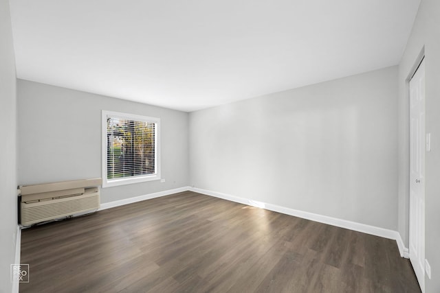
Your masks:
M409 121L406 79L425 48L426 132L432 151L426 153L425 245L432 279L426 292L440 292L440 1L422 0L406 50L399 65L399 232L408 247Z

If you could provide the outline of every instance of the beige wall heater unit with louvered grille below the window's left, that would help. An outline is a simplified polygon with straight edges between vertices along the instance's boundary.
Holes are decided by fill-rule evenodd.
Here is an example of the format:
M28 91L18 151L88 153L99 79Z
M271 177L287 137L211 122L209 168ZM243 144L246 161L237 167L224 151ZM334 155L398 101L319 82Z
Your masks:
M97 211L101 178L19 186L21 225Z

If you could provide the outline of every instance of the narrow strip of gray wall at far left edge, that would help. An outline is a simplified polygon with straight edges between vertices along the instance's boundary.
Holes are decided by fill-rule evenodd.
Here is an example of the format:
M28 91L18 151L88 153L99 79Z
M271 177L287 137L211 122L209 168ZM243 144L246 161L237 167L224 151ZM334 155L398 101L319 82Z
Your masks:
M0 292L11 292L17 231L17 112L9 1L0 0Z

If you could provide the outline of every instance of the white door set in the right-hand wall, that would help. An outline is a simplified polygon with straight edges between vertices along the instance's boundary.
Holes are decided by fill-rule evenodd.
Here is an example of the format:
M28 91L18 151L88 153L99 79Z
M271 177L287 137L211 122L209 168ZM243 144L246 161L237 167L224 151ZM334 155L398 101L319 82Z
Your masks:
M425 290L425 62L410 80L410 261Z

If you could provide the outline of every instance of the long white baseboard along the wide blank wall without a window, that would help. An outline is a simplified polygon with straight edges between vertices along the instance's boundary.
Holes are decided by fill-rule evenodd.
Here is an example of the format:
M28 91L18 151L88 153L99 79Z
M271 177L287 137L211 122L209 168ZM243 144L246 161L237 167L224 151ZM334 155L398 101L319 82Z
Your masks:
M206 194L208 196L214 196L216 198L223 198L224 200L230 200L233 202L239 202L241 204L250 205L252 207L259 207L261 209L267 209L270 211L276 211L278 213L285 213L286 215L294 215L298 218L303 218L315 222L329 224L332 226L338 226L341 228L347 228L353 231L358 231L366 234L380 236L388 239L393 239L397 242L399 253L401 257L408 258L408 248L404 246L404 242L401 239L400 233L397 231L389 230L386 228L380 228L376 226L370 226L361 224L358 222L351 222L349 220L342 220L338 218L329 217L327 215L319 215L316 213L309 213L307 211L299 211L297 209L290 209L287 207L281 207L276 204L269 204L267 202L259 202L250 198L240 198L238 196L231 196L230 194L222 194L221 192L210 191L206 189L200 189L196 187L190 187L191 191L199 194Z

